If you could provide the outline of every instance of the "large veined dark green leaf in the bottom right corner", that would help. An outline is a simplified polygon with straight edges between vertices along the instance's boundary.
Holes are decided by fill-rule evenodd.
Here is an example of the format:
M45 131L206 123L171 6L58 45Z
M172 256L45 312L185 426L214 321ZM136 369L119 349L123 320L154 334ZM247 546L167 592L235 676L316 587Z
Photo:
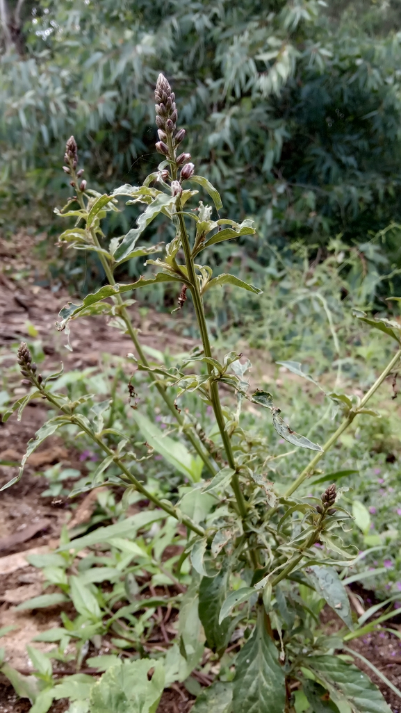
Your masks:
M348 704L352 713L390 713L380 690L356 666L337 656L309 657L303 665L313 670L340 709Z

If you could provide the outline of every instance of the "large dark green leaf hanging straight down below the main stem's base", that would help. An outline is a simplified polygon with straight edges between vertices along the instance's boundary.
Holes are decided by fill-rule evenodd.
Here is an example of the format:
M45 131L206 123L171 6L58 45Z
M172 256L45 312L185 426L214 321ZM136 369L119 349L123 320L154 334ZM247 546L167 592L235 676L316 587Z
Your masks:
M238 654L233 687L233 713L283 713L285 674L278 651L266 632L259 610L253 635Z

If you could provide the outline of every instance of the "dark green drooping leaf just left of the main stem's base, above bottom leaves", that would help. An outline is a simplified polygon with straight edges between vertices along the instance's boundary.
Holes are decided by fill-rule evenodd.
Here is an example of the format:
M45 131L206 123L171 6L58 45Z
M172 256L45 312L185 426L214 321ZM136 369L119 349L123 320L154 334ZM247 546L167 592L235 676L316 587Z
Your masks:
M215 577L203 577L199 588L199 618L205 630L208 647L225 649L228 643L230 618L219 622L220 609L228 588L229 570L223 567Z

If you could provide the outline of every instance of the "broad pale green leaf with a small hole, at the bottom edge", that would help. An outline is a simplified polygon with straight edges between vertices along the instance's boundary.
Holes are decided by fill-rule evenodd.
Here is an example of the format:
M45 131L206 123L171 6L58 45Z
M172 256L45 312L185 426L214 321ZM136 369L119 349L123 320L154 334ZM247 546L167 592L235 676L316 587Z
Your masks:
M164 680L161 661L141 659L112 666L91 689L91 713L155 713Z

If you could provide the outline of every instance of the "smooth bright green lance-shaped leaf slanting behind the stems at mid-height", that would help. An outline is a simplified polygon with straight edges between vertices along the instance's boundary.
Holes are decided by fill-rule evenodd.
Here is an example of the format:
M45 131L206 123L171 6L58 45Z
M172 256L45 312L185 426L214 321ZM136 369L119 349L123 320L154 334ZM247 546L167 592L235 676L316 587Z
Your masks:
M132 415L149 446L154 448L157 453L160 453L163 458L166 458L166 461L173 468L176 468L179 473L183 473L183 476L191 478L191 481L198 483L203 468L202 458L198 455L193 456L181 441L176 441L175 438L170 438L170 436L164 436L163 431L158 429L158 426L153 424L143 413L133 411Z

